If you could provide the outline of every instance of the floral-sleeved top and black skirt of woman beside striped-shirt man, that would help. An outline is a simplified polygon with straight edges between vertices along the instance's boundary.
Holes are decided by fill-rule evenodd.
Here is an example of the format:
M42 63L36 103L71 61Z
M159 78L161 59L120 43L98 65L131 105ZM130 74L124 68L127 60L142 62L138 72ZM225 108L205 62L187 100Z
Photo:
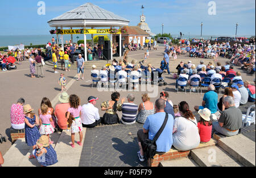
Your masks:
M109 107L109 101L104 101L101 104L101 108L108 108ZM122 104L117 104L117 111L122 111ZM114 112L114 109L108 109L104 116L102 117L102 123L103 124L117 124L120 123L119 117L116 112Z

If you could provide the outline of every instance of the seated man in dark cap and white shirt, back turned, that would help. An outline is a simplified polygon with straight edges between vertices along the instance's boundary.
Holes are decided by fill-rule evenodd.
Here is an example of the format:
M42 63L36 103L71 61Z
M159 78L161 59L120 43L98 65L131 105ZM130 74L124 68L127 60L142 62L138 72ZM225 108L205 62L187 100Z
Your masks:
M90 96L88 98L88 104L84 104L81 110L82 127L94 128L101 123L100 114L98 108L95 107L98 98Z

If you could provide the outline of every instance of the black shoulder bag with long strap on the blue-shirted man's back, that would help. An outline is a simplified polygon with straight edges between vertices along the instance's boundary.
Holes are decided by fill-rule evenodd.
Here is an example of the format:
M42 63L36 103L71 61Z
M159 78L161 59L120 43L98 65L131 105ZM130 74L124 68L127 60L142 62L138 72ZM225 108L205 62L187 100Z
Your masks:
M163 125L158 130L158 133L156 133L154 139L153 140L145 139L141 142L142 149L147 158L154 159L154 156L156 154L156 141L159 138L160 134L163 132L163 129L165 128L167 121L168 121L168 113L166 113L166 118L164 119Z

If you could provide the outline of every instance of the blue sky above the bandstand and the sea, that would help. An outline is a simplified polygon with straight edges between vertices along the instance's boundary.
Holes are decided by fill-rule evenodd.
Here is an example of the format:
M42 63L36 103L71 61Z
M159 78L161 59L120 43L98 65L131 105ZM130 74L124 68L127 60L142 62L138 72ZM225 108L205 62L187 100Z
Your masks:
M216 0L216 15L209 15L209 0L98 0L66 1L45 0L46 15L38 15L38 0L1 1L0 35L48 35L51 29L47 22L56 16L91 2L102 9L130 20L137 26L141 6L151 31L185 35L200 35L200 24L204 23L203 35L255 35L255 0Z

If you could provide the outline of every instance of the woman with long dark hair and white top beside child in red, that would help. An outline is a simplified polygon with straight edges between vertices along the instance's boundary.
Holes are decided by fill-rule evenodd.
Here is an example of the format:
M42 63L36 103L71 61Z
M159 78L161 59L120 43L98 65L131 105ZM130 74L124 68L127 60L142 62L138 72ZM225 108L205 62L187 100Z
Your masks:
M185 101L179 104L179 111L181 117L174 120L173 145L180 151L195 149L200 144L196 117L189 110L189 105Z

